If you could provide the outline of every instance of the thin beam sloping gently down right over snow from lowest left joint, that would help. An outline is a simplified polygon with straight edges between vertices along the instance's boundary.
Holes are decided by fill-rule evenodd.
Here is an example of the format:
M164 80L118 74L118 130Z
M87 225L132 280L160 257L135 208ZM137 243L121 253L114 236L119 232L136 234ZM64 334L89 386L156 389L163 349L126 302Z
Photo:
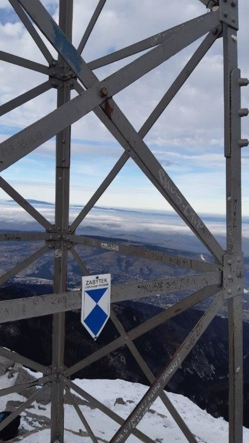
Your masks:
M68 386L74 392L77 392L77 394L79 394L85 400L89 401L89 403L91 405L93 405L95 408L98 408L107 417L110 417L116 423L119 423L119 424L124 423L124 419L122 417L120 417L118 414L116 414L110 408L107 408L107 406L105 406L99 400L96 400L96 398L94 398L92 395L88 394L88 392L84 391L84 389L75 385L75 383L68 380L66 377L63 377L63 375L60 375L60 379L61 379L61 381L63 381L65 383L66 386ZM147 435L145 435L143 432L139 431L138 429L133 429L132 434L135 435L135 437L137 437L138 439L140 439L144 443L155 443L154 440L150 439Z

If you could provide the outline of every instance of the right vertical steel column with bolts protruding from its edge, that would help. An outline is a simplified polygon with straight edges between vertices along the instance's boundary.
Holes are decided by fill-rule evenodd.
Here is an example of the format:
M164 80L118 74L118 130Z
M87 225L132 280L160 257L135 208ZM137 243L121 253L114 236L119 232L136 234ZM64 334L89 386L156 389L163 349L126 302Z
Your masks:
M236 5L236 2L234 2ZM234 8L234 15L238 11ZM226 155L227 253L241 253L241 121L234 100L240 103L237 31L223 23ZM237 88L238 85L238 88ZM237 292L238 294L238 292ZM229 324L229 443L243 440L242 295L228 300Z

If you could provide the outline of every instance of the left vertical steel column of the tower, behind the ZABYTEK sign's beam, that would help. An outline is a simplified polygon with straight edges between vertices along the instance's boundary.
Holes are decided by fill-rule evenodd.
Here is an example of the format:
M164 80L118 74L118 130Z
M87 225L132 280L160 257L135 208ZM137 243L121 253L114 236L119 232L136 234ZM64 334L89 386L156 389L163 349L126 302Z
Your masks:
M68 39L72 40L73 0L60 0L59 26ZM66 70L64 59L59 55L58 64ZM70 100L70 83L58 83L57 107ZM63 233L69 225L69 173L70 173L71 128L65 128L56 136L56 187L55 187L55 243L54 257L54 292L64 292L67 288L67 242ZM53 316L53 372L60 373L64 366L65 313ZM51 443L64 441L64 386L59 377L52 385L51 404Z

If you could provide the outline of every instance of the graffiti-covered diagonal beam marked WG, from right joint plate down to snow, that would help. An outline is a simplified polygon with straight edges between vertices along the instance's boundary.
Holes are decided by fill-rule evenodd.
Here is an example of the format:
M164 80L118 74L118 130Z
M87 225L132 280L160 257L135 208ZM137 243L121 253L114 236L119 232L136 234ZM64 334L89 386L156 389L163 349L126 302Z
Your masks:
M150 406L154 403L157 397L161 394L165 386L172 378L176 370L181 366L184 359L188 356L196 342L202 336L203 332L207 329L207 326L211 323L212 319L218 313L223 304L222 294L218 295L212 303L211 307L205 312L203 317L199 320L197 325L193 328L188 337L184 340L182 345L178 348L174 354L171 362L162 371L161 375L157 377L153 385L148 389L146 394L138 402L134 410L125 420L125 423L119 428L115 435L110 440L110 443L123 443L130 436L134 427L136 427L142 420L143 416L149 410Z

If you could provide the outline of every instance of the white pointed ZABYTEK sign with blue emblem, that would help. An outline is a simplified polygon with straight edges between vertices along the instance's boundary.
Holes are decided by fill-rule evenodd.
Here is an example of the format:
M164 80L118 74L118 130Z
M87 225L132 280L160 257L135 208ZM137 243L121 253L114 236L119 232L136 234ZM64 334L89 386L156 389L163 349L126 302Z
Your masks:
M96 339L110 316L111 275L82 277L81 322Z

